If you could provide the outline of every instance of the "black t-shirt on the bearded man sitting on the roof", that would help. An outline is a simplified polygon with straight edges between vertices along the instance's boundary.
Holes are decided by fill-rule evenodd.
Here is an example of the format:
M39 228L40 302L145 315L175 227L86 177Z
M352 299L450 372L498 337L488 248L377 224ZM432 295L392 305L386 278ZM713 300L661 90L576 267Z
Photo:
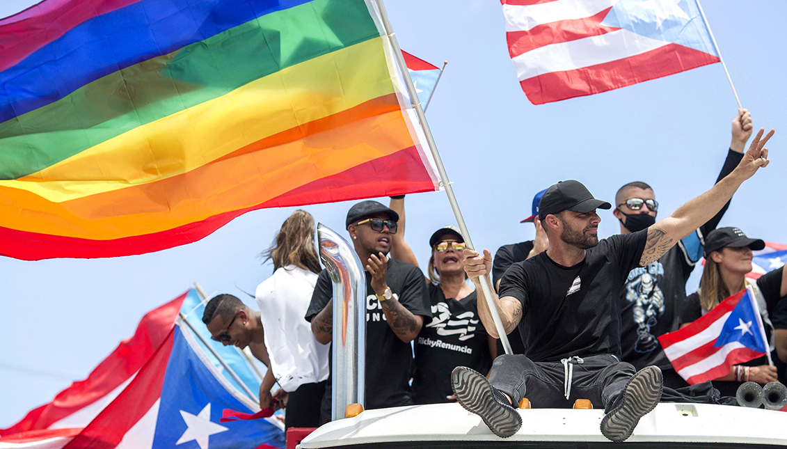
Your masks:
M519 333L528 358L620 355L620 288L639 265L647 236L644 230L602 239L571 267L543 252L508 269L500 296L522 302Z

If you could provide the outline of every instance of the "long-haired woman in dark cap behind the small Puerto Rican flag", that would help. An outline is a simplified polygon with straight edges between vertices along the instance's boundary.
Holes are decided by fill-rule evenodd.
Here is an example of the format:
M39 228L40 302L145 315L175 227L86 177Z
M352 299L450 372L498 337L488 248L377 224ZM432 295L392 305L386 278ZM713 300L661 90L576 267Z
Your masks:
M751 287L763 317L770 350L773 351L774 325L770 315L777 309L781 297L787 295L784 267L764 274L756 281L746 278L746 274L752 271L752 250L764 247L763 240L749 239L738 228L719 228L708 233L700 288L686 298L681 327L689 325L738 291ZM777 369L767 365L766 357L756 358L732 366L729 374L713 381L713 386L719 388L722 395L734 396L738 386L747 380L758 384L778 380Z

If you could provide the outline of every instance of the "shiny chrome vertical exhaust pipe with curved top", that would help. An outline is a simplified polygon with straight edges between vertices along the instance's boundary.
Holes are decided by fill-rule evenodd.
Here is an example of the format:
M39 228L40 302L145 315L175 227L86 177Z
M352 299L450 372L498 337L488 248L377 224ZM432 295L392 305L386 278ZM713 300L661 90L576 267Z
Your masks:
M334 284L334 336L331 366L331 421L345 417L352 403L364 405L366 363L366 274L347 240L317 224L320 259Z

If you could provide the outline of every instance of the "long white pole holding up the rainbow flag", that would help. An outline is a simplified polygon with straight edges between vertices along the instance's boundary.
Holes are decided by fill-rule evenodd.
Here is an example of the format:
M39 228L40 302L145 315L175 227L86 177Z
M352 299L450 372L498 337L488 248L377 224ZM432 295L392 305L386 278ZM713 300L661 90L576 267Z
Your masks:
M416 108L416 114L418 115L419 121L421 121L421 126L423 127L423 133L427 137L427 143L429 144L429 149L432 152L432 157L434 158L434 163L438 167L438 173L440 173L440 179L442 180L442 187L445 187L445 193L448 195L448 200L451 203L451 209L453 209L453 214L456 216L456 222L459 224L459 229L462 232L462 238L464 239L464 243L467 244L467 247L471 250L475 250L473 246L473 242L470 239L470 232L467 232L467 225L464 223L464 218L462 217L462 212L459 210L459 203L456 202L456 196L453 195L453 187L451 187L451 183L448 179L448 173L445 173L445 166L443 166L442 159L440 158L440 154L438 153L438 147L434 143L434 138L432 137L432 132L429 129L429 124L427 123L427 117L423 114L423 109L421 108L421 102L419 102L418 94L416 93L416 87L413 86L412 80L410 79L410 73L407 70L407 65L405 64L405 57L401 54L401 48L399 47L399 43L397 42L396 35L393 33L393 27L391 27L390 20L388 20L388 14L386 13L386 7L382 5L382 0L372 0L377 5L380 17L382 18L382 26L386 30L386 35L390 39L391 46L393 46L393 54L397 58L397 62L399 64L399 69L402 72L402 76L405 78L405 83L407 83L407 91L410 94L410 98L412 99L413 106ZM492 315L492 320L494 321L495 328L497 328L497 335L500 336L500 341L503 343L503 349L505 350L506 354L513 354L511 350L511 344L508 343L508 336L505 333L505 329L503 328L503 322L500 319L500 314L497 313L497 307L494 304L494 299L492 296L492 290L489 287L489 274L481 276L481 290L484 294L484 299L486 299L486 304L489 306L490 314Z

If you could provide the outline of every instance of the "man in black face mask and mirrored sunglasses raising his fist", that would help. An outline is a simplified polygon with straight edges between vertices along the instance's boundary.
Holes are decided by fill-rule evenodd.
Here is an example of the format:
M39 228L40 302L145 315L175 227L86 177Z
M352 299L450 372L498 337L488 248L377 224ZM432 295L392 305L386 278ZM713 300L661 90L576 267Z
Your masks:
M751 115L746 109L739 109L732 124L730 151L717 183L741 162L752 129ZM636 369L659 366L664 374L664 384L671 388L685 387L686 384L664 355L658 337L678 330L686 299L685 284L702 257L704 236L716 228L728 206L729 202L715 217L678 242L659 260L633 269L621 291L623 361ZM620 221L620 232L628 234L656 223L658 211L659 202L652 187L643 182L633 182L620 187L612 213Z

